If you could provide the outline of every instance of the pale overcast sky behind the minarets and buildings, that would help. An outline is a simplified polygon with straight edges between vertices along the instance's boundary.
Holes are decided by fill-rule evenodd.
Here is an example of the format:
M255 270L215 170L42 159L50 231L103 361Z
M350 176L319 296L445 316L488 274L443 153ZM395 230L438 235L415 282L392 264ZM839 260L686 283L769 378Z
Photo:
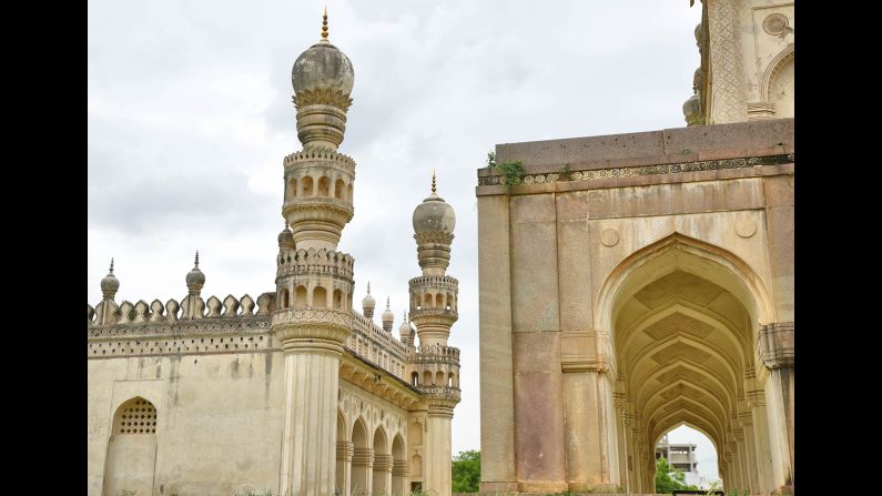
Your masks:
M318 41L323 6L89 2L89 303L101 301L111 256L116 302L180 301L196 249L205 300L275 290L282 159L301 149L291 67ZM397 336L407 281L419 274L410 214L435 168L457 216L448 274L459 280L459 321L449 342L462 350L463 401L453 449L478 449L475 171L496 143L683 126L700 6L332 0L327 8L330 40L355 69L339 149L357 164L355 216L339 244L355 257L355 301L368 280L377 315L391 295Z

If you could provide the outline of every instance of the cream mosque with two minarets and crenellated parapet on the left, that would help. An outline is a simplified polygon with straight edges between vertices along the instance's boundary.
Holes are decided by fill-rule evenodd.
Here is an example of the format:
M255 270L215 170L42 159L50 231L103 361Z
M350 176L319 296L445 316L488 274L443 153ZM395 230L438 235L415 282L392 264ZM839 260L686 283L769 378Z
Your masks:
M349 59L327 38L294 62L303 144L283 160L285 229L275 289L118 303L113 262L89 305L88 494L450 494L459 402L458 282L447 275L455 213L432 191L413 214L422 273L393 334L386 308L353 305L355 161L338 152L352 104Z

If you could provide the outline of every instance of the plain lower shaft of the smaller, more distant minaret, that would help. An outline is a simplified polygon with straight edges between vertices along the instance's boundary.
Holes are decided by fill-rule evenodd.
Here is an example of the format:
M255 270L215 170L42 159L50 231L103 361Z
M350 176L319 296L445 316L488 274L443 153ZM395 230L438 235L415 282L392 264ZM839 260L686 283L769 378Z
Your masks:
M423 457L425 467L423 490L438 496L450 496L453 492L450 480L453 460L450 421L453 417L453 406L429 404L426 416L425 456Z

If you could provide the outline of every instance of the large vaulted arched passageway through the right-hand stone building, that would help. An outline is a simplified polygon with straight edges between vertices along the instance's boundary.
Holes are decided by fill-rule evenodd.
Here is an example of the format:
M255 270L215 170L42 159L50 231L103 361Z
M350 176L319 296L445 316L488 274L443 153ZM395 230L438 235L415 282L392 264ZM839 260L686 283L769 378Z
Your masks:
M655 490L657 441L688 424L719 446L728 488L768 494L781 443L761 399L757 335L770 298L733 254L672 234L627 257L605 282L596 315L611 330L619 478ZM606 325L606 327L604 327ZM748 398L756 398L748 401ZM612 403L612 402L610 402Z

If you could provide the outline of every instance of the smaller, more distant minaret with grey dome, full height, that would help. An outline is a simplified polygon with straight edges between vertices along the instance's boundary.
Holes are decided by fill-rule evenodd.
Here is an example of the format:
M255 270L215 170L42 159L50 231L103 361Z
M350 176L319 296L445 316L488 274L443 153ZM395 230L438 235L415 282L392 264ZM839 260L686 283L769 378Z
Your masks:
M449 496L450 421L459 403L459 350L447 346L457 320L458 282L446 275L454 239L454 209L435 191L414 210L414 239L423 275L410 280L410 321L416 325L419 348L415 371L426 393L426 447L423 488Z

